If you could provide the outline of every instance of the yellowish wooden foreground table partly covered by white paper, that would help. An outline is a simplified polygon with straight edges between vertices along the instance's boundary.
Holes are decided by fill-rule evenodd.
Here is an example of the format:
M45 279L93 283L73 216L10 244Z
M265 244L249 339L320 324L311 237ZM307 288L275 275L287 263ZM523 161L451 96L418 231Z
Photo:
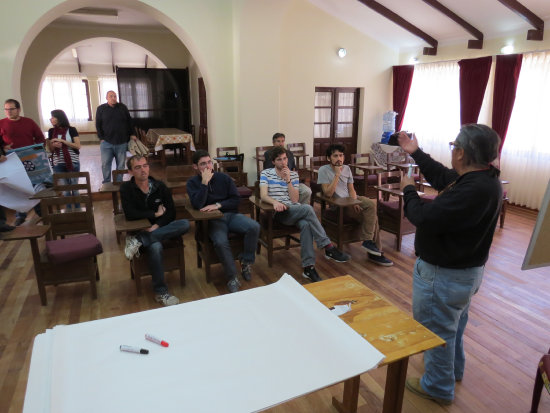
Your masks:
M327 307L356 301L340 318L386 356L380 364L388 366L382 411L400 412L409 357L445 341L350 275L304 287ZM360 376L346 380L343 400L332 399L340 413L357 411L359 382Z

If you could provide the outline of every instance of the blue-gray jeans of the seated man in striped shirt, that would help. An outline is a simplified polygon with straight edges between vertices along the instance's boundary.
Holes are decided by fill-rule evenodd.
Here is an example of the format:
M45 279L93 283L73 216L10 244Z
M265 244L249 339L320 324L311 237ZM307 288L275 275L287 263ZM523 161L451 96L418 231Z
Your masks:
M330 244L330 239L311 205L290 205L286 211L277 212L275 220L283 225L296 225L300 228L302 267L315 265L313 241L315 240L318 248L324 248Z

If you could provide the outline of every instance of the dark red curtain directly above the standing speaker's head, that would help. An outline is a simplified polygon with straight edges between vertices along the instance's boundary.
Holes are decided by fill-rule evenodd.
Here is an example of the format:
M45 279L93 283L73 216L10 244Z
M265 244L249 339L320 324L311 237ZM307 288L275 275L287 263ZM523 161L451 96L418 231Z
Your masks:
M460 124L477 123L491 72L491 56L463 59L460 66Z

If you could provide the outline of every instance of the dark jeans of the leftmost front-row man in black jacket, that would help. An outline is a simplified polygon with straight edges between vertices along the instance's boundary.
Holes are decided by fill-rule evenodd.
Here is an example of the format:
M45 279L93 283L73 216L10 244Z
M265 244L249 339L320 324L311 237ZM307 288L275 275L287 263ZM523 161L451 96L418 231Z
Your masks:
M162 241L176 238L189 231L189 221L179 219L168 225L157 228L153 232L141 231L138 239L143 244L148 254L149 271L153 281L153 291L156 294L165 294L168 287L164 283L164 265L162 263Z

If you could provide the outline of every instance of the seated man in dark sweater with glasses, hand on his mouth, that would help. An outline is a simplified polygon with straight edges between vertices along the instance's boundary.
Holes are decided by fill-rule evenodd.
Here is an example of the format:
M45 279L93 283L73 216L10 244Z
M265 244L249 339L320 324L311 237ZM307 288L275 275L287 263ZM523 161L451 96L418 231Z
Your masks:
M260 225L238 213L240 197L237 187L229 175L213 171L212 159L208 152L198 150L193 154L193 168L198 175L187 181L187 194L193 208L204 212L219 209L223 213L222 218L208 221L208 231L216 255L225 270L227 289L234 293L239 290L241 283L237 278L228 234L234 232L244 235L244 251L239 257L241 275L246 281L250 281L251 265L256 259Z

